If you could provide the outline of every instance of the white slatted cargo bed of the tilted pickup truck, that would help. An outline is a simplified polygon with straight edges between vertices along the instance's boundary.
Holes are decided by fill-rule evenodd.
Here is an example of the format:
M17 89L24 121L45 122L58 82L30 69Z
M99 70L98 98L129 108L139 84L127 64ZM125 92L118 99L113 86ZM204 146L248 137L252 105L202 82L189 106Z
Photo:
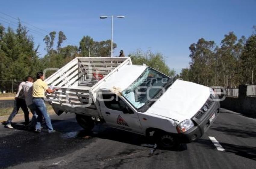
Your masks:
M101 82L105 82L105 77L113 70L116 71L118 66L129 63L131 64L130 58L75 58L45 80L48 85L59 88L52 94L46 94L48 102L55 111L98 114L98 104L95 104L92 88L98 88ZM102 74L104 78L98 81L93 76L94 73Z

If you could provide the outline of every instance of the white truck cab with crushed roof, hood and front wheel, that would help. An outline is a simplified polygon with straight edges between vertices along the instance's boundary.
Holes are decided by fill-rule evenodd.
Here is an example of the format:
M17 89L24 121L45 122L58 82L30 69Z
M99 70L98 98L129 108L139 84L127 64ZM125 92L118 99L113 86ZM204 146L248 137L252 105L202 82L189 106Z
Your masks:
M109 126L148 136L153 133L162 147L201 137L217 117L220 104L216 99L209 87L139 65L126 65L98 93Z

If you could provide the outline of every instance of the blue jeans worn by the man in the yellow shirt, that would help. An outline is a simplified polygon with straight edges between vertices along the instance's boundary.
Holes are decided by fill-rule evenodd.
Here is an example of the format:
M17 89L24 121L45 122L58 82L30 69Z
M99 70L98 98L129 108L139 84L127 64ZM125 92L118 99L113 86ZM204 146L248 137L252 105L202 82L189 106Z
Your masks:
M42 121L42 116L45 119L46 127L48 129L48 132L51 132L53 130L52 128L52 123L51 123L51 118L47 112L47 108L44 102L44 99L42 98L33 98L33 104L35 108L38 110L38 118L37 118L37 123L36 123L36 129L40 130L41 129L41 121Z

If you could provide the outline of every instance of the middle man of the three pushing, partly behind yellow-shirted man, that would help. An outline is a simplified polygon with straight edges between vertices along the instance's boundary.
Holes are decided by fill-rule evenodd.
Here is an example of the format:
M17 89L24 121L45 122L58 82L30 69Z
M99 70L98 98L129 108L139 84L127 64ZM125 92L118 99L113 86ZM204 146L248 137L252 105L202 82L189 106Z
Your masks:
M22 86L23 93L25 96L25 102L27 104L27 107L30 109L31 113L33 114L29 129L32 129L33 127L35 127L37 123L37 117L38 117L36 113L36 107L34 106L32 101L33 100L33 96L32 96L33 82L34 82L34 79L31 76L28 76L26 83Z

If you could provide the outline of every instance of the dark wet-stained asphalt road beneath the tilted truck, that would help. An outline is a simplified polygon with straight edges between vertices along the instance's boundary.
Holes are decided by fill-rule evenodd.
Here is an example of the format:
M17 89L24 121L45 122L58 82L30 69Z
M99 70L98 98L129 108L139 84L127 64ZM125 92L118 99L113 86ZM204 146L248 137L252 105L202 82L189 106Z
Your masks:
M0 126L0 168L255 168L256 120L221 112L206 134L178 150L156 149L144 136L99 125L86 134L73 114L52 115L57 133ZM217 150L209 136L225 151Z

